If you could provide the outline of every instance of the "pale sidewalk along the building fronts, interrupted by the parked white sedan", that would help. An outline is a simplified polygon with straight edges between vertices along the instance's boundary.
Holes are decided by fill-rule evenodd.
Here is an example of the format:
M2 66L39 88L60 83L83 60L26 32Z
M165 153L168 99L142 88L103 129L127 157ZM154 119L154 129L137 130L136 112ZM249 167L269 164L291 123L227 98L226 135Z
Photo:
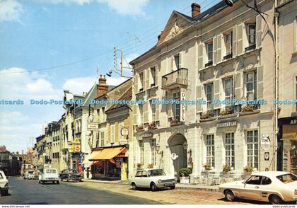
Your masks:
M85 182L93 182L93 183L109 183L109 184L118 184L118 185L129 185L127 181L121 180L93 180L93 179L86 179L83 178ZM176 189L184 189L184 190L204 190L204 191L211 191L211 192L219 192L219 187L217 185L204 185L204 184L180 184L177 183L175 186Z

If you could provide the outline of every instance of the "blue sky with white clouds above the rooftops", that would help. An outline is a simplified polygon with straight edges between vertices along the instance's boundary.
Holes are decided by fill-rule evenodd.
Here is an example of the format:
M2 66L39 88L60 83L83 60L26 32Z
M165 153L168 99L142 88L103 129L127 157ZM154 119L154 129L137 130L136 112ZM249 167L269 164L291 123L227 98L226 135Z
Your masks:
M113 69L114 47L131 61L156 44L174 10L190 16L193 2L204 11L219 0L0 0L0 102L25 101L0 104L0 145L28 149L30 137L64 112L30 99L89 91ZM107 83L124 80L113 74Z

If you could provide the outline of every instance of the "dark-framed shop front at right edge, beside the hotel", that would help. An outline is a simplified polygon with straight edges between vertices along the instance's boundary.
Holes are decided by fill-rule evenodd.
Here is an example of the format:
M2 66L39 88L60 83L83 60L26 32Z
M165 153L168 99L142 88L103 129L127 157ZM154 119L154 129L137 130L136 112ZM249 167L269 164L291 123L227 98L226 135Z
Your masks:
M297 117L279 119L278 137L279 170L297 174Z

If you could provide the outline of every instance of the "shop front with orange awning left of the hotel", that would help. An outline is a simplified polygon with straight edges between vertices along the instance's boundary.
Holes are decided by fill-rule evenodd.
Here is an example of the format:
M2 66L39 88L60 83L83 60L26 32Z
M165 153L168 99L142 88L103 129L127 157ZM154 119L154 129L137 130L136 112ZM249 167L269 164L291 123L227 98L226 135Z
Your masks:
M95 149L89 161L93 179L127 180L127 149L125 146L111 146Z

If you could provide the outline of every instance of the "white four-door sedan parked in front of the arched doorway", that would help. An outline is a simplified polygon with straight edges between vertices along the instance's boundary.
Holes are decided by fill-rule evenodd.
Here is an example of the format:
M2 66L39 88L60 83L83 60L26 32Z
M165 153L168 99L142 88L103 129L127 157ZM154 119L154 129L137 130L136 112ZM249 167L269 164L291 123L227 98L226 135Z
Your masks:
M163 187L175 189L176 180L175 177L165 175L162 169L146 169L137 171L135 177L129 178L129 184L133 190L137 187L149 187L156 191Z

